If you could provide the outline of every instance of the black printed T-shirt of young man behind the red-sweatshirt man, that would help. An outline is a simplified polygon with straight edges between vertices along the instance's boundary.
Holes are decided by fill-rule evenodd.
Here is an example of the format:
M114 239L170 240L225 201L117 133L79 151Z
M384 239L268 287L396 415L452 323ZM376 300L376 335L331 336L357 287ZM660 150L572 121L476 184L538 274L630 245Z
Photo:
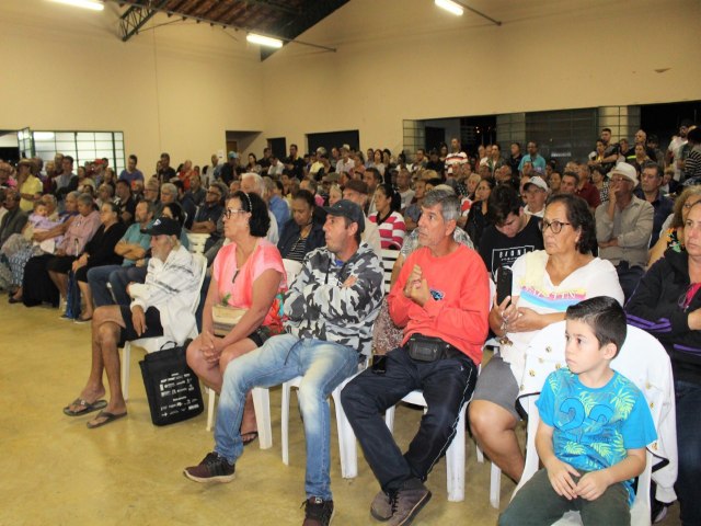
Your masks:
M480 255L493 279L499 266L510 267L519 256L533 250L543 250L540 218L536 216L530 216L526 227L513 238L507 238L494 225L490 225L480 240Z

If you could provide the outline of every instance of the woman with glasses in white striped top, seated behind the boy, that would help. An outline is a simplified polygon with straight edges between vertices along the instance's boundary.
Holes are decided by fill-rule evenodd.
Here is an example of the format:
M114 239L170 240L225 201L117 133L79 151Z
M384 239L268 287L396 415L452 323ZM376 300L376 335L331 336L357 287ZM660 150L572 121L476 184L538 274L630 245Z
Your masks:
M518 386L525 352L538 331L564 320L570 305L596 296L623 304L616 267L595 258L595 221L587 203L574 195L552 196L542 222L544 250L528 252L512 266L512 295L490 312L490 328L502 338L499 350L482 368L470 404L470 425L478 444L518 482L524 454L515 428Z

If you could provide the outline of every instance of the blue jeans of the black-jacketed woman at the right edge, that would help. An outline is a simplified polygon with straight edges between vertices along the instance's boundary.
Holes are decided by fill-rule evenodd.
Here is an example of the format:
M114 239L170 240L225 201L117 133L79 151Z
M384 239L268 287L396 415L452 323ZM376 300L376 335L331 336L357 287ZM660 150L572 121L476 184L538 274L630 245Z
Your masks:
M677 449L679 474L675 491L681 507L681 524L701 524L701 386L690 381L675 381L677 402Z

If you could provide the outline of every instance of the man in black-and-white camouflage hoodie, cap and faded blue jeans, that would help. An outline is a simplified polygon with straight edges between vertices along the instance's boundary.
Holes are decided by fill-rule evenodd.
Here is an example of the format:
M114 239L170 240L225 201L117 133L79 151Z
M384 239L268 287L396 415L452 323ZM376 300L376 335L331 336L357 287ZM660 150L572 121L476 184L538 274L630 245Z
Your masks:
M215 450L184 474L196 482L230 482L243 453L241 419L246 392L302 376L299 409L307 438L306 526L333 515L330 411L326 398L370 353L372 322L382 300L380 260L360 241L365 216L342 199L326 208L326 247L304 258L285 296L286 333L229 364L219 399Z

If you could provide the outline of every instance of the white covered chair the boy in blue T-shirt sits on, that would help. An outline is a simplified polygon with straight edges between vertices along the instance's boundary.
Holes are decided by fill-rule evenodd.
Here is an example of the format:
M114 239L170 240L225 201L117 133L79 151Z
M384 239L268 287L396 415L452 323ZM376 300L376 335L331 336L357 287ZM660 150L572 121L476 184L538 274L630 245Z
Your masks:
M565 321L548 325L533 338L526 351L526 369L519 387L519 401L528 412L526 466L514 495L538 470L536 431L540 418L536 401L548 375L556 368L565 366L564 332ZM639 477L637 493L631 508L631 524L647 526L651 524L650 487L653 464L656 460L668 461L663 469L671 470L674 478L676 478L676 412L671 365L665 348L654 336L635 327L628 325L628 336L619 355L611 362L611 367L633 381L643 392L658 434L658 439L647 445L647 464ZM578 513L570 512L555 524L578 525L582 522Z

